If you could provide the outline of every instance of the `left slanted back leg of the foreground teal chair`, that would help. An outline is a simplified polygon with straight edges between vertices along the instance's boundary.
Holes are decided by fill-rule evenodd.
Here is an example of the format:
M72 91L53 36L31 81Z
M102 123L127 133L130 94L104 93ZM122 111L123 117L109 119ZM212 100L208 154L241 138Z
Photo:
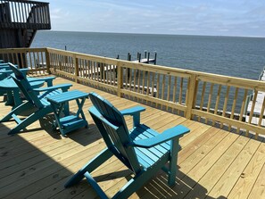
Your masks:
M82 180L82 178L85 178L85 173L92 172L95 170L98 166L106 162L108 159L112 157L113 153L108 148L105 148L104 151L99 153L94 159L92 159L90 162L88 162L81 170L79 170L70 180L67 181L67 183L64 185L64 187L71 187L73 185L76 185L79 183L79 181Z

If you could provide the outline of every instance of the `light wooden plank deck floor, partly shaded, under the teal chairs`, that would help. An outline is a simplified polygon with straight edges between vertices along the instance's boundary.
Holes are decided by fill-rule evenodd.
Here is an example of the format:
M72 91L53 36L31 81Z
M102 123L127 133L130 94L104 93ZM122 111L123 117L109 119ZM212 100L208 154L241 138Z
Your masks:
M54 84L68 80L57 78ZM95 88L74 84L71 89L95 91L118 109L137 103ZM2 98L1 98L2 101ZM95 198L94 190L84 180L65 189L64 183L105 145L88 115L89 129L79 129L61 137L51 129L53 115L29 126L27 131L7 136L13 121L0 124L0 198ZM144 105L145 106L145 105ZM11 107L0 103L2 118ZM180 139L178 177L175 187L168 187L166 175L159 172L130 198L265 198L265 144L236 133L216 129L193 120L149 106L141 121L159 132L178 124L191 132ZM71 111L77 109L75 102ZM159 121L159 122L158 122ZM127 118L128 126L131 119ZM104 191L112 196L130 178L130 172L115 158L95 170Z

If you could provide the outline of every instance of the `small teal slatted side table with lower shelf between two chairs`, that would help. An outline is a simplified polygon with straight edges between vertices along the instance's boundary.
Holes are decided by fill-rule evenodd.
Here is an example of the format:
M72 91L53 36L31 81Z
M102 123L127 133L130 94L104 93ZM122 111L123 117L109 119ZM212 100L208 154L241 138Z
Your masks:
M59 127L60 132L63 137L72 130L79 129L82 127L88 127L88 123L85 114L82 110L83 105L88 98L88 94L79 90L72 90L64 92L58 95L47 96L46 99L54 111L55 121L53 128ZM69 115L61 118L61 112L64 104L69 103L71 100L76 100L79 110L74 115Z

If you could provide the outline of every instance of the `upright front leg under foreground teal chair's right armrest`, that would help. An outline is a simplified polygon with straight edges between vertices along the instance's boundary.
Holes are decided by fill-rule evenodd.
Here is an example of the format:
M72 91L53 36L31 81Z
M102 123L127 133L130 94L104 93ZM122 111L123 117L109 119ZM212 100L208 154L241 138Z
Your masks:
M177 174L177 161L178 161L178 141L179 137L171 140L170 146L170 167L169 167L169 186L173 186L176 183Z

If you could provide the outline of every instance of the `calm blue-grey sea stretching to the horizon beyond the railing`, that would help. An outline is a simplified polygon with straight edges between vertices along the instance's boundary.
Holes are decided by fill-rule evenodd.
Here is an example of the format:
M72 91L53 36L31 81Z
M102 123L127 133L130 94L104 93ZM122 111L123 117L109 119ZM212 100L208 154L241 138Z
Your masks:
M86 54L137 59L157 52L157 64L239 78L258 79L265 66L265 37L209 37L38 31L32 47L54 47ZM143 56L143 55L142 55Z

